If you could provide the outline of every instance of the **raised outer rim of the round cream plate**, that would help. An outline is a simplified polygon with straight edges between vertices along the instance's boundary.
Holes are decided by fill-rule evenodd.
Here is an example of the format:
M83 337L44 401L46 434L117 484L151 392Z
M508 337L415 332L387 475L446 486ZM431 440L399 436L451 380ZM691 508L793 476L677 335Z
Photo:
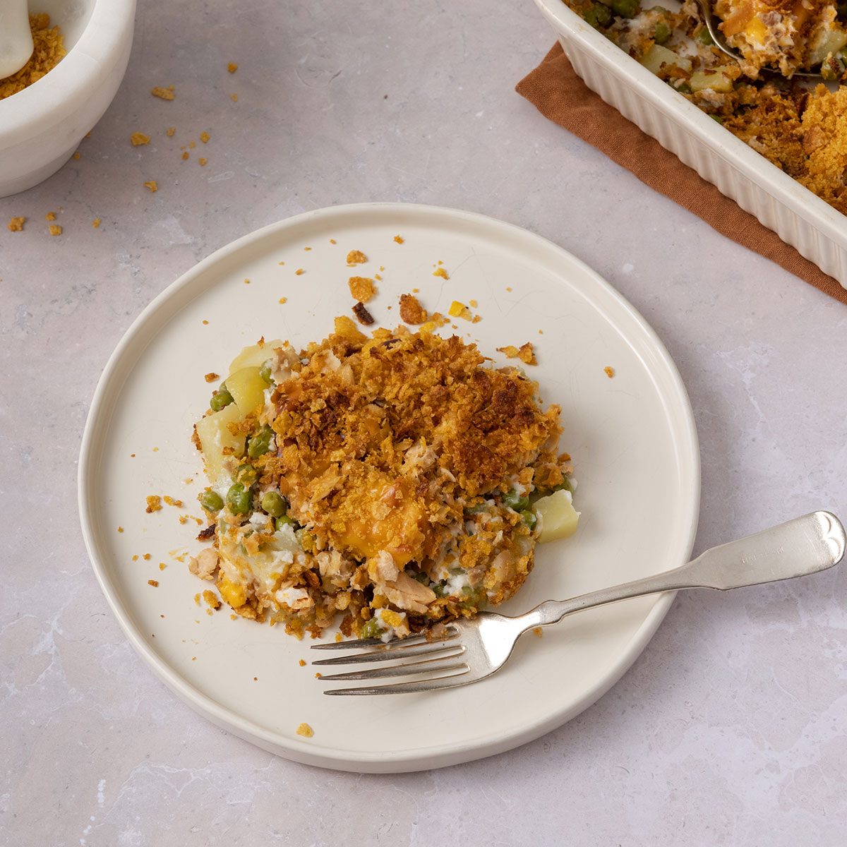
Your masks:
M101 418L102 413L109 411L107 404L108 393L113 388L113 380L116 375L119 375L119 367L122 363L125 350L130 346L130 343L139 334L141 329L143 329L145 324L147 324L147 320L157 313L165 302L174 297L186 285L190 285L197 276L205 273L208 268L213 267L213 265L219 263L224 258L241 251L252 242L261 241L264 237L274 232L284 231L296 227L299 224L312 222L315 219L331 218L335 215L345 216L350 213L368 214L390 211L396 213L418 213L424 217L434 216L435 219L443 217L447 217L448 219L458 218L468 223L487 227L493 226L495 229L505 228L512 230L512 232L519 233L524 238L537 241L540 245L544 245L545 248L558 252L567 261L578 266L584 274L592 278L594 283L599 285L607 295L612 296L618 305L623 307L628 313L628 316L634 320L635 324L639 325L639 329L641 329L650 342L653 352L657 354L659 361L667 369L667 376L670 378L673 391L677 395L676 400L679 401L681 411L684 413L685 425L679 426L678 435L684 436L684 443L681 443L680 446L685 448L685 451L689 453L690 490L687 494L690 499L690 514L688 518L688 534L684 536L683 549L680 551L680 558L683 561L690 555L694 547L700 515L699 441L697 438L694 410L691 407L688 392L685 390L685 385L676 363L673 362L673 358L667 352L667 348L656 334L656 330L647 323L645 318L622 294L613 288L593 268L590 268L581 259L575 257L573 253L559 246L554 241L550 241L543 235L538 235L525 227L518 226L518 224L493 218L490 215L468 212L457 208L406 202L345 203L337 206L312 209L275 221L272 224L267 224L246 235L241 235L235 241L230 241L220 246L207 257L192 265L185 273L180 274L174 282L167 285L163 291L160 291L157 296L153 297L152 301L141 310L141 313L138 314L125 330L124 335L121 336L118 344L108 357L100 378L97 380L97 387L91 398L91 406L86 416L86 425L80 442L80 456L77 470L77 506L86 552L100 589L106 597L108 606L111 608L125 636L129 639L130 644L136 650L136 653L147 662L147 666L152 669L153 673L175 695L180 697L180 700L183 700L194 711L197 711L202 717L207 718L219 728L224 728L227 732L235 734L239 738L261 747L263 750L268 750L275 755L302 764L349 772L400 773L428 770L435 767L448 767L466 761L481 759L485 756L494 756L540 738L542 735L570 721L589 706L592 706L623 677L623 674L627 672L628 668L645 649L645 646L656 632L659 624L662 623L676 596L675 591L669 591L656 597L655 603L650 608L650 611L647 612L644 621L640 624L626 648L612 662L611 667L606 669L601 684L586 691L570 708L563 711L556 711L536 722L527 724L516 732L503 735L499 739L485 739L483 741L472 739L461 744L436 745L424 750L421 748L410 748L392 753L348 750L329 751L324 748L316 748L315 745L306 741L280 736L280 734L276 734L267 728L259 726L257 723L247 720L237 712L221 706L210 696L190 684L168 662L161 656L158 656L147 645L147 642L141 638L139 628L133 623L129 612L127 612L119 599L118 591L113 587L112 580L107 573L107 568L97 556L97 542L94 530L92 529L91 518L94 504L90 506L86 496L91 487L91 478L94 476L96 469L93 467L97 451L97 445L94 442L94 432L97 429L97 422ZM660 396L664 398L664 395Z

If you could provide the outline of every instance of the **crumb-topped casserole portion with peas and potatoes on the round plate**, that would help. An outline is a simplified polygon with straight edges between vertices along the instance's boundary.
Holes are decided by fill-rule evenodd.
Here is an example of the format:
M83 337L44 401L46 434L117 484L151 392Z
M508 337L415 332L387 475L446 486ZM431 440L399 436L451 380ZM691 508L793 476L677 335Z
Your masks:
M507 600L579 518L537 392L455 335L349 318L299 352L246 347L195 426L213 546L191 571L298 637L388 639Z

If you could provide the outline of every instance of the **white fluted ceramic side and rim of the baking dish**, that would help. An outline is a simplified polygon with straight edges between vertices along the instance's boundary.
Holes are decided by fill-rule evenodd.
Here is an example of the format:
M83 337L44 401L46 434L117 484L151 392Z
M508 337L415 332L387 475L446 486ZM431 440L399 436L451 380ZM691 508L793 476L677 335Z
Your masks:
M724 130L562 0L535 3L585 85L847 288L847 217Z

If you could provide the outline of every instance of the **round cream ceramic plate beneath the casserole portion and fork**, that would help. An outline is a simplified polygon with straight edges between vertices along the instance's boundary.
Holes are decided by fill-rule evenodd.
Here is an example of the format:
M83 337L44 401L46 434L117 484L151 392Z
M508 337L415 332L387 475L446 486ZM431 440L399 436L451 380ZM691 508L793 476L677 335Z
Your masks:
M393 241L398 234L405 243ZM347 268L352 249L369 263ZM449 280L433 275L439 261ZM312 657L307 641L195 605L209 584L176 556L201 547L197 523L178 517L201 514L202 468L189 435L213 387L203 374L225 374L260 335L295 346L325 337L335 315L350 314L350 274L376 273L383 279L368 307L380 324L396 324L397 298L413 288L430 311L476 300L482 320L459 319L457 331L495 358L497 346L534 342L539 365L528 370L543 400L562 406L583 518L572 539L538 548L534 572L504 611L686 561L700 462L684 387L644 320L567 252L480 215L396 203L303 214L214 253L141 313L102 374L80 455L82 528L120 625L155 673L220 727L296 761L402 772L509 750L574 717L639 655L673 595L584 612L543 639L525 637L480 684L379 698L324 696L313 669L299 665ZM150 494L186 509L147 514ZM301 722L313 738L296 734Z

